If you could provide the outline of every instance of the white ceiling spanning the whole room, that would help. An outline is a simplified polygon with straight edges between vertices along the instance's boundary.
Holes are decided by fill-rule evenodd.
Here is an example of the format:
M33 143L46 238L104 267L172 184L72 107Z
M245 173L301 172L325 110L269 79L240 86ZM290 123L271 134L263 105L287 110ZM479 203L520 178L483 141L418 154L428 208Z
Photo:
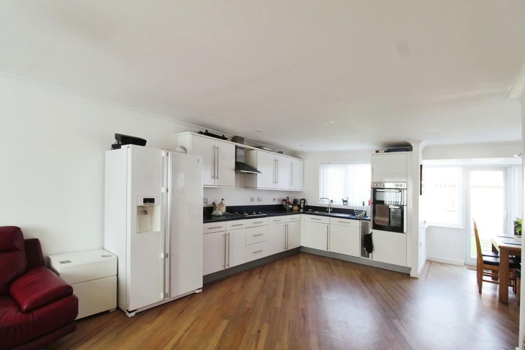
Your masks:
M6 0L0 33L0 71L285 149L521 138L523 0Z

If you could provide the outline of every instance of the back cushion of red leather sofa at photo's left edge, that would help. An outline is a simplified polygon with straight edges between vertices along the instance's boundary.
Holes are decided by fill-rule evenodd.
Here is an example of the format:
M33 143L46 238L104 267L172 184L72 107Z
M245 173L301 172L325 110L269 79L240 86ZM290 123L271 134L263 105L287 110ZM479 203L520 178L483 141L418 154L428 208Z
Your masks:
M9 285L26 271L24 235L16 226L0 227L0 295L9 294Z

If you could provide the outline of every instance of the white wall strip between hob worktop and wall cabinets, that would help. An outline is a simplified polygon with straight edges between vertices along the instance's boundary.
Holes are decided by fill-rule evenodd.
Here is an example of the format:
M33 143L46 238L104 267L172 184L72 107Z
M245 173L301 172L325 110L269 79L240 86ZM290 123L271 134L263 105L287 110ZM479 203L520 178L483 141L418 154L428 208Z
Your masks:
M205 188L204 198L208 198L206 207L211 207L212 202L219 203L222 198L226 203L226 209L229 205L264 205L264 204L281 204L281 199L287 196L290 199L302 198L301 192L294 191L272 191L272 190L254 190L244 188L244 174L235 174L235 188ZM255 202L250 202L253 197ZM257 197L262 201L257 202ZM276 199L275 202L273 199Z

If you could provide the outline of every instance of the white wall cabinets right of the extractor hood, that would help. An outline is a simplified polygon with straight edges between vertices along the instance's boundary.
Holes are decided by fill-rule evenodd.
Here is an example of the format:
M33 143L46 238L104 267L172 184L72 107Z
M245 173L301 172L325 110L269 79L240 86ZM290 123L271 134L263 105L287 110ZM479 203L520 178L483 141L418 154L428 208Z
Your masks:
M248 188L301 191L303 187L303 161L262 150L245 150L245 162L260 174L246 174ZM294 184L295 182L295 184Z

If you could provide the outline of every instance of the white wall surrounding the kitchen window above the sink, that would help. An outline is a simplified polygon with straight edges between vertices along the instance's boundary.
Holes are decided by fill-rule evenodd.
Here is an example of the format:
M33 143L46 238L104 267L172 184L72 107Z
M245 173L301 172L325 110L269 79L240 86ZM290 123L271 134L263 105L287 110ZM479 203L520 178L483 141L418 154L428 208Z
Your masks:
M308 152L298 153L297 157L304 160L304 191L301 198L306 198L308 205L325 206L326 203L319 204L319 166L321 163L329 162L369 162L370 155L375 150L363 149L353 151L337 151L337 152ZM350 207L348 205L334 205L337 208L358 208ZM366 206L367 213L370 214L370 207Z

